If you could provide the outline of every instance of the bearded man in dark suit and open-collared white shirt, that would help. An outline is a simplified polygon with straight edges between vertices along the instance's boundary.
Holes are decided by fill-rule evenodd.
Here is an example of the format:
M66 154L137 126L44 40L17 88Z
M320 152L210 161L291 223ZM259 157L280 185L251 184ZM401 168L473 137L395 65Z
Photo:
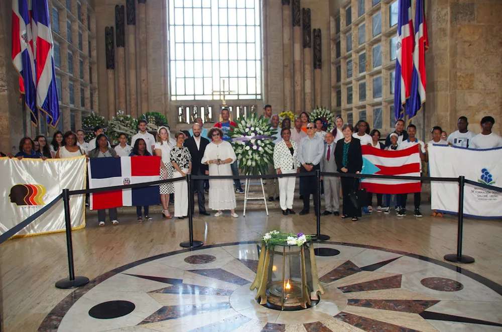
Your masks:
M202 164L200 161L204 156L204 151L206 146L209 144L209 140L201 137L201 128L199 124L193 124L192 126L193 136L185 140L185 147L190 151L192 156L192 174L193 175L208 175L208 166ZM205 197L204 197L204 180L193 180L192 181L192 192L190 193L190 199L193 199L193 195L197 191L197 201L199 203L199 214L210 215L206 212L205 207ZM194 204L192 204L192 214L194 210Z

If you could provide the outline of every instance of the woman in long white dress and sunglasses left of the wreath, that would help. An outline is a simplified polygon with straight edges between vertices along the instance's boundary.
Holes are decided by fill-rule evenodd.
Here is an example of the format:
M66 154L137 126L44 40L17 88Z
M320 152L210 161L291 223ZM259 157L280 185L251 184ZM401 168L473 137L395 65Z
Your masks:
M232 146L222 140L223 132L219 128L211 128L207 136L213 141L206 146L201 163L209 165L209 176L232 175L230 164L237 160ZM218 210L214 216L222 215L222 210L230 210L230 215L237 218L235 206L233 180L209 180L209 208Z

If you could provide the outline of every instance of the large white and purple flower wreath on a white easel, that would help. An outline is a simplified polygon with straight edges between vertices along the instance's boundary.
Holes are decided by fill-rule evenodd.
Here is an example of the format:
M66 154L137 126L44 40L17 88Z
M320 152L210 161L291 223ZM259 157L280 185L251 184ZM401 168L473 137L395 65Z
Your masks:
M274 162L274 139L277 131L267 119L256 116L242 119L231 126L232 148L244 174L267 174Z

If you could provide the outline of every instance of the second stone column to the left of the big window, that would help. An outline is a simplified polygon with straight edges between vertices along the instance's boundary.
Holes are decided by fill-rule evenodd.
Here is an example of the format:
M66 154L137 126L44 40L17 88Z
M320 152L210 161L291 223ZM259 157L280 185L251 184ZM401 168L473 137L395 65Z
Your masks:
M136 0L127 0L129 54L129 112L138 119L138 90L136 83Z

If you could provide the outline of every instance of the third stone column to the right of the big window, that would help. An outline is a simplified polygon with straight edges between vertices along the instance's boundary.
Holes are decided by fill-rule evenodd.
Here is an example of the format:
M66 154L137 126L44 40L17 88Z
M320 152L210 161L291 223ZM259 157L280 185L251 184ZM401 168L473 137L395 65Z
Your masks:
M312 110L312 29L310 25L310 8L302 10L303 16L303 79L305 94L305 110Z

